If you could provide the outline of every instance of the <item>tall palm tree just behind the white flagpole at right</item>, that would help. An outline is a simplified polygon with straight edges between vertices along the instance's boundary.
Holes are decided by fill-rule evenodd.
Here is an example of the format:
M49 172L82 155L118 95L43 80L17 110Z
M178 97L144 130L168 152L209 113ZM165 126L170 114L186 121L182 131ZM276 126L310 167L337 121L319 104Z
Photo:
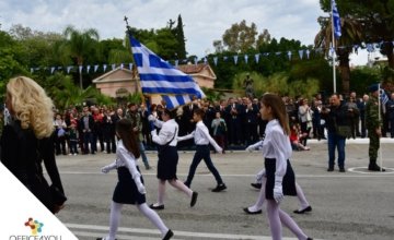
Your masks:
M320 16L317 22L322 28L317 33L314 44L316 48L323 48L325 53L329 52L331 43L333 41L332 21L331 17ZM361 24L351 16L340 17L341 36L335 39L336 53L339 60L339 72L343 81L343 91L349 93L350 88L350 67L349 55L356 44L362 40Z

